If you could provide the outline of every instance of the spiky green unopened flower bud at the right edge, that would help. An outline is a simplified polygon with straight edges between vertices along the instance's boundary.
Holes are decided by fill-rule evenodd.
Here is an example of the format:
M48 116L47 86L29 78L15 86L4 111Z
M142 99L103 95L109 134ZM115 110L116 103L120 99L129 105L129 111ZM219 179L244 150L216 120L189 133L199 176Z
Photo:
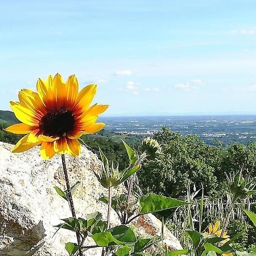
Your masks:
M256 180L250 179L249 177L244 178L241 172L238 172L233 177L229 178L229 189L230 192L236 198L245 199L247 196L256 193Z

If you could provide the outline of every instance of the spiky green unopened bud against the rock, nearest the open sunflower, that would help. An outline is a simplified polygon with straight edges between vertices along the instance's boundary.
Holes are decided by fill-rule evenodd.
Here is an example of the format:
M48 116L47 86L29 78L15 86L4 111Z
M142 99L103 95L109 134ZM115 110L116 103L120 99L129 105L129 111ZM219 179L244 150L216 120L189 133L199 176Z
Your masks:
M94 174L104 188L117 187L141 168L141 164L136 164L131 168L126 168L123 171L119 171L118 164L116 167L114 167L114 163L112 162L112 165L109 166L109 160L106 158L101 149L100 155L102 161L102 171L94 172Z

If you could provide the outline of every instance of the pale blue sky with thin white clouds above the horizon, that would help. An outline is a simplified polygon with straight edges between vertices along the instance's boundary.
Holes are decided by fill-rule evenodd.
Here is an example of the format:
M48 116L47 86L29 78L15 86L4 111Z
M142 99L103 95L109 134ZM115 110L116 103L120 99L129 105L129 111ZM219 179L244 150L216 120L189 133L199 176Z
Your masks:
M256 114L254 0L0 3L0 109L59 72L105 115Z

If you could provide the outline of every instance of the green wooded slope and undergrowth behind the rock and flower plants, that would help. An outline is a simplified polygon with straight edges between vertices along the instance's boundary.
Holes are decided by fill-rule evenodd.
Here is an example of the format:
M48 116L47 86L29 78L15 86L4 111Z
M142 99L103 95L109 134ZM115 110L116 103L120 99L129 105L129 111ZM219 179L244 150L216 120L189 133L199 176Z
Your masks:
M8 113L7 117L0 116L0 119L0 141L16 143L22 136L6 133L3 130L10 123L14 123L15 119L8 119ZM117 138L113 135L103 130L95 135L82 136L81 141L98 155L100 147L109 161L119 163L119 168L122 169L128 164L129 159L120 140L121 137ZM214 205L223 204L230 199L229 177L237 172L256 177L256 144L253 142L246 145L233 143L223 147L216 141L213 146L210 146L197 135L181 135L167 128L156 132L153 138L162 147L162 153L158 158L143 164L142 170L137 174L139 187L144 194L154 192L158 195L194 202L200 201L203 195L208 202L205 204L202 222L205 230L209 223L225 218L225 207L220 210L215 209ZM127 135L122 139L139 150L143 138ZM239 201L234 205L228 234L230 237L241 234L233 243L237 250L255 253L256 230L249 218L241 217L239 214L248 204L250 204L250 210L256 212L255 196L250 200ZM192 215L193 210L196 212L196 209L191 209ZM158 213L158 217L164 217L168 228L174 231L183 246L187 246L182 232L184 214L184 212L166 210ZM194 215L196 226L196 213Z

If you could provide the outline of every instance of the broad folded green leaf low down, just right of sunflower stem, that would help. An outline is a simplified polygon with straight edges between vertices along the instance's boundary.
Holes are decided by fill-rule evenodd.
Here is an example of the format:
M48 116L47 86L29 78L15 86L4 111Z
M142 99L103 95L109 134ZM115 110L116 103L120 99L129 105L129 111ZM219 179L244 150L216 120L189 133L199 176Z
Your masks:
M137 241L133 230L125 225L115 226L108 231L91 236L98 246L126 245Z

